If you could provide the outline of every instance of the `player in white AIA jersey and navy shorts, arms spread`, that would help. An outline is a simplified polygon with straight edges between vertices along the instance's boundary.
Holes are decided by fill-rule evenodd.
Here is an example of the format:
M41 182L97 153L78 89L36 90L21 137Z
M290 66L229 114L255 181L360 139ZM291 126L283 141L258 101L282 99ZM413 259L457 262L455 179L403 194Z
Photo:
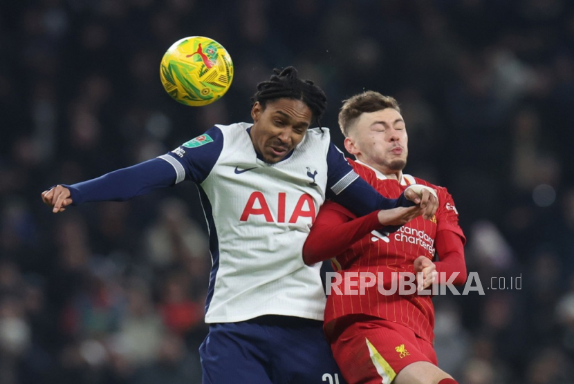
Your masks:
M434 214L431 193L383 198L331 144L319 123L326 96L293 67L257 86L252 124L215 125L170 153L42 193L69 205L122 201L191 180L210 233L212 271L200 348L203 383L343 383L322 333L320 265L302 248L326 198L357 215L393 209L402 224Z

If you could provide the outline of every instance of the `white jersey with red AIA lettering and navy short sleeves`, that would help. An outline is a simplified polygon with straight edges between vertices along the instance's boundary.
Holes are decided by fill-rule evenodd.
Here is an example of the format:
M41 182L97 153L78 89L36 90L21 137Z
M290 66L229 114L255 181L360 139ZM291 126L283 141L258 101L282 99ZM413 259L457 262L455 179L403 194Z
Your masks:
M201 187L212 256L205 322L268 314L323 320L320 264L304 264L303 244L328 189L338 194L358 175L327 128L309 129L286 159L267 164L251 126L214 126L160 156L174 166L176 183Z

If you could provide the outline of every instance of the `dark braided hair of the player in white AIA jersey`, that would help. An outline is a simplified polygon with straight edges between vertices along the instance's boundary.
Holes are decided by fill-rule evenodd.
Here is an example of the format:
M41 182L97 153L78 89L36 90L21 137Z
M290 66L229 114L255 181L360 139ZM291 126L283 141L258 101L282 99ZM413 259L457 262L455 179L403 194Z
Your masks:
M276 99L301 100L311 109L313 119L320 124L320 119L327 107L327 97L323 90L311 80L299 79L297 69L289 66L284 70L275 68L275 75L268 81L257 84L257 93L251 97L252 102L259 102L263 108L266 103Z

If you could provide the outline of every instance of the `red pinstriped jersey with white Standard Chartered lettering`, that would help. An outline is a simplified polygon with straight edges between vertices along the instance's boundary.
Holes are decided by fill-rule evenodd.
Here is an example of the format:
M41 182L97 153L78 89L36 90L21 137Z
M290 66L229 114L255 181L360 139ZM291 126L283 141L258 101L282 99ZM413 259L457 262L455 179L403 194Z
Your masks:
M458 212L454 207L452 196L447 190L441 186L429 184L424 180L420 180L410 175L403 175L402 180L390 180L382 175L382 173L372 169L366 164L349 160L355 171L364 179L367 180L375 189L387 198L398 198L400 194L405 191L410 184L424 184L436 189L438 193L439 207L436 214L431 220L424 220L422 216L411 220L398 231L390 233L385 236L384 233L379 231L372 231L367 235L362 236L360 240L353 243L353 245L346 249L343 253L331 259L335 270L346 272L370 272L375 276L380 276L382 273L384 282L383 285L388 289L391 286L392 272L410 272L414 271L414 260L418 256L426 256L430 260L435 260L435 240L441 231L449 231L445 235L450 237L441 238L442 242L452 242L453 247L443 249L455 249L457 256L450 260L447 265L439 267L436 262L436 271L446 271L451 273L455 270L464 273L464 276L459 276L462 281L466 278L462 244L465 242L463 231L459 227ZM327 224L332 224L328 220L332 220L333 215L347 215L348 220L355 218L355 215L344 207L333 202L326 203L322 209L323 214L317 216L317 220L313 228L321 228L322 220L325 225L322 238L313 237L313 229L308 241L319 244L320 240L324 243L329 242L328 236L333 236L333 231L328 230ZM329 212L331 211L331 212ZM331 216L329 214L331 213ZM357 224L362 221L362 233L369 231L371 228L375 229L380 227L376 219L376 213L371 215L371 218L364 217L364 220L355 220ZM322 218L323 217L323 218ZM347 221L348 221L347 220ZM349 223L350 224L350 223ZM365 229L366 227L369 227ZM355 226L356 227L356 226ZM353 231L345 231L351 233ZM321 230L317 231L321 235ZM324 244L323 243L323 244ZM307 244L306 244L307 247ZM323 247L325 247L323 245ZM440 250L440 249L439 249ZM454 260L458 259L458 260ZM462 263L462 265L461 265ZM396 274L395 274L396 277ZM356 279L358 280L358 279ZM379 280L379 284L380 284ZM355 285L356 287L356 285ZM390 296L380 294L377 284L372 287L367 287L364 294L360 295L346 295L341 287L342 295L331 294L328 297L325 309L325 324L330 323L332 320L346 316L349 314L367 314L369 316L376 316L384 318L396 323L400 323L412 329L418 336L432 342L434 340L434 307L432 298L429 295L412 294L408 296L400 296L398 292Z

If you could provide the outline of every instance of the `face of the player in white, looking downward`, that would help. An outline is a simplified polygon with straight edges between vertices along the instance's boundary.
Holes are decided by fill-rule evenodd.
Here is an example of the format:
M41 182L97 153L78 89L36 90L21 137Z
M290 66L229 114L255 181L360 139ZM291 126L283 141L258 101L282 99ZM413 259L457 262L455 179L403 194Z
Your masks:
M301 100L277 99L266 107L256 102L251 110L251 141L269 164L284 159L303 140L313 113Z

